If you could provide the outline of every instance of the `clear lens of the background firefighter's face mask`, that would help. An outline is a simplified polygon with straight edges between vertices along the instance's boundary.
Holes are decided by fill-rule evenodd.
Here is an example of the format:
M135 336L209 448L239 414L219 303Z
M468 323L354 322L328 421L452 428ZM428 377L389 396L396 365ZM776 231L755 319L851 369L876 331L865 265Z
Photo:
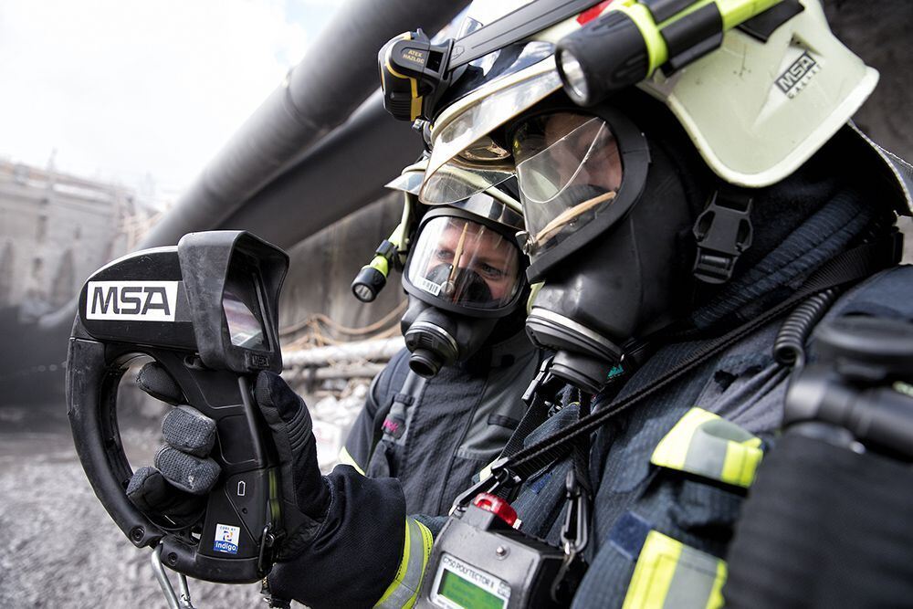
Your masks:
M405 278L434 299L470 310L497 310L519 292L519 248L498 231L460 217L422 227Z

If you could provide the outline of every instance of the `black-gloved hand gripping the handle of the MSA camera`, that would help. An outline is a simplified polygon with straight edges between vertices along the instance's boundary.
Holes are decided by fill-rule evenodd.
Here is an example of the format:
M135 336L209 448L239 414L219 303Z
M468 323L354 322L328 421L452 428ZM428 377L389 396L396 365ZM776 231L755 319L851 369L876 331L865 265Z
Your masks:
M188 405L177 383L158 363L148 363L137 375L147 394L176 405L162 423L165 440L155 455L155 467L141 467L130 480L127 497L144 512L164 514L178 524L193 522L205 507L205 495L220 474L209 458L215 444L215 422ZM320 525L330 505L331 491L317 465L317 445L304 401L278 374L262 372L254 397L272 432L279 458L282 491L282 529L278 560L299 554Z

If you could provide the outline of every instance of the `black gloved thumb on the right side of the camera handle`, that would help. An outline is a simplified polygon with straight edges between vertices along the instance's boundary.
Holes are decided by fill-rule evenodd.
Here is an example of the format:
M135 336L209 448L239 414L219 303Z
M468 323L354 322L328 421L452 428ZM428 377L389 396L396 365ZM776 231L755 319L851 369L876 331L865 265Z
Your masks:
M283 464L283 494L295 498L302 513L320 520L329 507L330 491L317 465L308 406L278 374L266 371L257 375L254 396Z

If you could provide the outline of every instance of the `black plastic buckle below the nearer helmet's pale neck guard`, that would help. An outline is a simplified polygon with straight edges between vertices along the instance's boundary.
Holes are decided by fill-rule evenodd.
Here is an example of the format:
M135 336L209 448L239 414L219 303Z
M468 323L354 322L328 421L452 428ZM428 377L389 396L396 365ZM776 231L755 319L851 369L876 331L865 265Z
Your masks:
M694 236L698 257L694 276L706 283L726 283L739 257L751 246L751 197L742 191L713 194L707 209L698 215Z

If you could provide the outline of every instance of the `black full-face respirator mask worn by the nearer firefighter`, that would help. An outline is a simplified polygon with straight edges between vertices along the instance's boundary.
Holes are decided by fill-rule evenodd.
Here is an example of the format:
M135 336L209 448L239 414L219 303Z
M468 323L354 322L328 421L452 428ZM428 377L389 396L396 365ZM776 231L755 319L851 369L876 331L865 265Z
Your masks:
M509 131L531 282L530 339L551 372L597 393L636 337L669 323L694 218L671 160L620 112L547 110Z

